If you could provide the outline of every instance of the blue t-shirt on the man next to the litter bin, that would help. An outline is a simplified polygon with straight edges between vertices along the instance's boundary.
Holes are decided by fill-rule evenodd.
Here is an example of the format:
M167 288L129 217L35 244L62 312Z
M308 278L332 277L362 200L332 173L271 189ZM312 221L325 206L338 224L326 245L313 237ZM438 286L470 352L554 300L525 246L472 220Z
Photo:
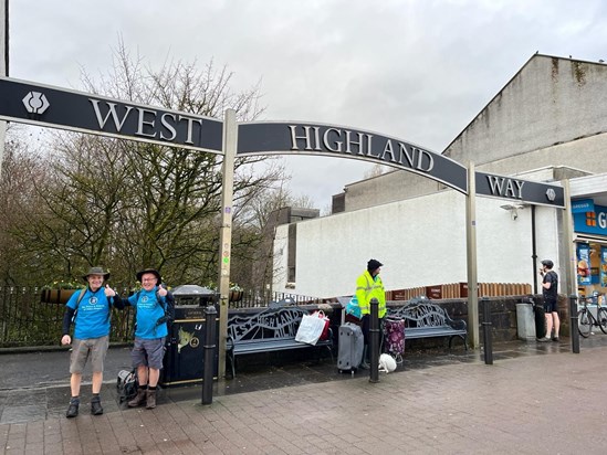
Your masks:
M130 297L128 303L136 307L137 328L135 337L145 339L163 338L168 335L166 322L156 325L156 321L165 316L165 297L157 297L158 287L151 290L142 289ZM158 298L160 301L158 301Z

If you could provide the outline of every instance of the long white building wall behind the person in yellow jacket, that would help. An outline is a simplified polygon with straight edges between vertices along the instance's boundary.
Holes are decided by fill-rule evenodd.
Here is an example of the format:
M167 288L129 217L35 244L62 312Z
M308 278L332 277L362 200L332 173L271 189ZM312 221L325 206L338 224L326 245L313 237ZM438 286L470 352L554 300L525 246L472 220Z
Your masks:
M479 283L533 284L531 208L516 220L477 198ZM538 261L558 263L556 210L536 209ZM287 225L276 232L275 252L287 247ZM453 190L297 223L295 288L276 276L274 290L315 297L352 295L369 258L384 263L387 290L467 282L465 197ZM276 256L285 268L286 254ZM558 272L558 265L555 266Z

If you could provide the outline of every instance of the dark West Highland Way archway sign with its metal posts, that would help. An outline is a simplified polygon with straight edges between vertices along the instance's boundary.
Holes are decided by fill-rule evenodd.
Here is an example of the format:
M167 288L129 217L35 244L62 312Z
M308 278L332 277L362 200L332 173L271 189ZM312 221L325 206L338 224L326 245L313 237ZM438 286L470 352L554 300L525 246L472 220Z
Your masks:
M211 117L113 99L96 94L0 77L0 119L42 127L181 147L223 155L222 224L219 287L220 374L224 375L228 292L231 255L233 162L254 155L314 155L390 166L441 182L468 195L467 244L469 288L477 288L475 203L486 195L515 202L565 208L559 186L475 172L440 154L408 141L344 126L294 123L237 123L226 112ZM478 346L478 296L470 293L471 340Z

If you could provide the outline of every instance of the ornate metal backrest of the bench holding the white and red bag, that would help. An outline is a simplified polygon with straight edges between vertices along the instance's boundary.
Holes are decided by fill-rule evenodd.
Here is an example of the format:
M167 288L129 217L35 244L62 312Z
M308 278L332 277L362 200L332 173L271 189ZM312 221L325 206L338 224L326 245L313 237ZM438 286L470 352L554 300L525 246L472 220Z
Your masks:
M233 341L295 338L303 315L299 307L269 308L257 315L234 315L228 319L228 337Z

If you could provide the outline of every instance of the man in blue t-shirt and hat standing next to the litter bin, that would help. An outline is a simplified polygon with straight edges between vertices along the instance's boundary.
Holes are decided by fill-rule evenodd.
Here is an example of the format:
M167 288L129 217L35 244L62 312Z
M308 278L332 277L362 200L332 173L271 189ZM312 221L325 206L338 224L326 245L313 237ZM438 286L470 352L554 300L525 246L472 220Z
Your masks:
M172 313L174 298L172 294L163 287L160 273L155 268L137 272L137 281L142 283L142 289L117 303L121 307L135 307L136 314L135 342L130 358L133 367L137 368L139 389L137 396L127 404L135 408L145 403L147 409L154 409L168 335L166 315Z

